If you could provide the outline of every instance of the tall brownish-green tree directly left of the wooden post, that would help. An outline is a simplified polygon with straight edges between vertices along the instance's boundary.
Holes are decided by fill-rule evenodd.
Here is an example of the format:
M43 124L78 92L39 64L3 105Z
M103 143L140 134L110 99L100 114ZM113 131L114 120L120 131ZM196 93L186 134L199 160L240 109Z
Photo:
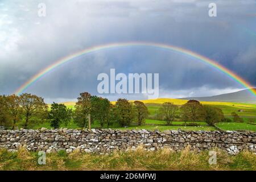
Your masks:
M77 98L74 112L74 122L79 127L85 128L88 126L88 115L92 110L91 96L88 92L80 93Z

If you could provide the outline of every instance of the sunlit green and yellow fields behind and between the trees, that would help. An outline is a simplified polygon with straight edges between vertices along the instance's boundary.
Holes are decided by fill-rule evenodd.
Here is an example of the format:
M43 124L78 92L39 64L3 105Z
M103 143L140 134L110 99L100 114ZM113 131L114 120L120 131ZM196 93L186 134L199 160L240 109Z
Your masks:
M163 104L163 102L173 102L174 104L181 106L187 102L187 100L179 100L179 99L171 99L171 98L159 98L156 100L143 100L144 104L147 106L148 111L150 113L149 118L154 117L156 115L159 107ZM256 125L250 125L249 119L253 118L256 122L256 105L255 104L243 104L243 103L235 103L235 102L201 102L204 105L210 105L221 109L226 118L232 119L231 113L234 111L241 118L243 118L243 123L218 123L217 127L209 127L205 122L195 122L199 126L182 126L184 125L184 121L174 121L172 122L172 126L166 126L165 121L159 121L155 119L146 119L146 122L142 126L137 126L136 123L131 123L129 127L119 127L117 124L114 126L110 126L113 129L147 129L147 130L250 130L256 131ZM69 108L74 108L75 102L65 102L64 103ZM115 104L115 102L112 102ZM179 120L179 119L178 119ZM187 122L188 125L189 122ZM34 128L47 127L49 123L36 125ZM61 125L61 127L66 127ZM76 123L69 123L68 128L77 128ZM106 126L105 126L106 127ZM98 123L93 123L92 128L100 128Z

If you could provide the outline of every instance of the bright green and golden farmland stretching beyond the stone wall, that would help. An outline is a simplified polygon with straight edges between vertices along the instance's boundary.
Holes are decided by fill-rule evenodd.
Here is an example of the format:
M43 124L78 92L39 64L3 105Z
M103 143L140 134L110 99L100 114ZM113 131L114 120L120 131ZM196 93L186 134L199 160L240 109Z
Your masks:
M134 101L130 101L134 102ZM187 102L187 100L179 100L179 99L171 99L171 98L159 98L156 100L142 100L142 102L146 105L148 110L148 116L141 126L138 126L138 122L132 121L129 125L125 127L121 127L118 122L112 123L109 125L112 129L120 129L120 130L130 130L130 129L147 129L147 130L250 130L256 131L256 105L254 104L243 104L243 103L234 103L234 102L201 102L203 105L209 105L212 107L217 107L221 109L224 117L229 118L229 122L219 122L216 123L215 126L209 126L208 123L204 121L194 121L193 123L190 121L184 121L182 118L175 118L174 121L167 125L167 122L162 118L158 118L159 108L162 107L164 102L172 102L177 105L177 107L181 107L183 104ZM65 106L69 109L75 110L75 102L64 102ZM112 101L112 104L115 102ZM51 106L48 105L48 109ZM50 110L50 109L49 109ZM177 115L181 113L180 109L177 109ZM232 112L236 112L240 118L243 119L243 122L238 123L233 121ZM18 123L18 127L22 128L24 125L23 121ZM51 123L49 122L32 122L30 124L30 129L40 129L45 127L47 129L52 129ZM69 129L81 129L77 125L73 118L68 123L60 123L60 127L66 127ZM98 121L92 122L92 128L107 128L108 126L104 124L100 125Z

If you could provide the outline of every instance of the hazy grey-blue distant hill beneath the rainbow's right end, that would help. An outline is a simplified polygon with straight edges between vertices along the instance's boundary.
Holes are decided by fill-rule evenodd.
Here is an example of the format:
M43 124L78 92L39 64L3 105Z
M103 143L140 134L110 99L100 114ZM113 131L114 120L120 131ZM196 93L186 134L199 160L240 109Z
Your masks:
M254 90L256 90L254 88ZM248 89L240 90L238 92L226 93L211 97L186 97L180 98L180 100L199 100L199 101L210 101L210 102L242 102L256 104L256 97L249 92Z

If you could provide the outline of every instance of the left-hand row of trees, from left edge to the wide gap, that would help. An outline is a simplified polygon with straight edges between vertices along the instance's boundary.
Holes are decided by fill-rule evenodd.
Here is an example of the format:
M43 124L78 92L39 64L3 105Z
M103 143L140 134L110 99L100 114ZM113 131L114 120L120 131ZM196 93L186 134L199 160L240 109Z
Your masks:
M98 122L101 127L109 127L113 123L125 127L131 122L141 126L148 116L148 110L141 101L129 102L119 98L113 105L107 98L91 96L88 92L80 93L75 109L55 102L48 107L42 97L28 93L0 96L0 125L12 129L19 122L22 122L24 129L38 122L49 122L52 127L59 128L61 123L67 126L71 119L77 126L86 128L89 115L91 122Z

